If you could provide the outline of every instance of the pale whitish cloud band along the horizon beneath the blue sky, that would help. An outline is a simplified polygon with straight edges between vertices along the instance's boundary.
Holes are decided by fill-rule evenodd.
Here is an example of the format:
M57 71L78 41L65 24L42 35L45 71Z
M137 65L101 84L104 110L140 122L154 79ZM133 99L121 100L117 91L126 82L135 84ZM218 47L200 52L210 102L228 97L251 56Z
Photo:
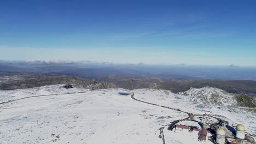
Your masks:
M179 50L174 47L168 49L152 49L150 47L121 47L121 48L45 48L30 47L0 47L0 59L4 61L23 61L27 63L58 64L75 63L84 60L91 62L133 63L144 64L180 64L187 65L237 65L256 66L252 59L226 56L219 52L196 52ZM26 60L30 59L30 60ZM241 59L243 61L241 61Z

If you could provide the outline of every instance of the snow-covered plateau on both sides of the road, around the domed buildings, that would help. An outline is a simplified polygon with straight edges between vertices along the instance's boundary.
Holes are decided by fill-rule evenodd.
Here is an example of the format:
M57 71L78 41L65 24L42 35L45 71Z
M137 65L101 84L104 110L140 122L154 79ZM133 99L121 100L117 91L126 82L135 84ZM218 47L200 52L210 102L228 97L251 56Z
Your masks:
M167 130L172 121L188 117L182 111L202 115L202 110L211 111L211 115L225 119L230 125L244 124L246 133L255 139L253 111L226 102L205 104L191 100L195 98L188 94L165 90L130 92L138 100L156 104L150 105L132 99L131 94L122 95L127 92L120 88L65 89L61 85L0 91L0 143L211 143L198 141L196 133Z

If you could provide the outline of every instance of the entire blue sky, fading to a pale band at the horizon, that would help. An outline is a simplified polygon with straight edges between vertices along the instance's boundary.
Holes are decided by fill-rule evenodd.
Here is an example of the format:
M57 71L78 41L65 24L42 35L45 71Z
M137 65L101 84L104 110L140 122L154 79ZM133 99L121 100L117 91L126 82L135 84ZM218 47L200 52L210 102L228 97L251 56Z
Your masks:
M0 59L256 66L256 1L1 1Z

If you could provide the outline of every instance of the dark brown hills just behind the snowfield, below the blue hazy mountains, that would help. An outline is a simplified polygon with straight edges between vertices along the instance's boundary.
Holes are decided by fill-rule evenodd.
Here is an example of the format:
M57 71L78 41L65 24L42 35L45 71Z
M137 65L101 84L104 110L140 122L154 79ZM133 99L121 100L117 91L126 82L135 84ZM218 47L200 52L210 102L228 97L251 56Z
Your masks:
M98 76L97 79L83 79L68 75L45 73L0 73L0 89L31 88L45 85L73 83L77 87L97 85L98 88L120 87L126 89L167 89L173 93L188 91L191 87L216 87L229 93L256 95L256 81L250 80L174 80L148 76Z

